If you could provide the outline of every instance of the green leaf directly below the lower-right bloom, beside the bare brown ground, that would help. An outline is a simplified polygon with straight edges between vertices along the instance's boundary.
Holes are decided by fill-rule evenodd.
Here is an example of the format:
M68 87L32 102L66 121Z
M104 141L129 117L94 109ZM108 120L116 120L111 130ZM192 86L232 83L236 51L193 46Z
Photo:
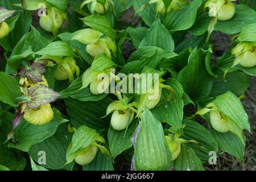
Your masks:
M214 129L212 129L212 135L217 140L218 146L222 151L235 156L235 158L241 162L244 161L245 146L240 137L231 132L219 133ZM245 136L243 135L243 137Z

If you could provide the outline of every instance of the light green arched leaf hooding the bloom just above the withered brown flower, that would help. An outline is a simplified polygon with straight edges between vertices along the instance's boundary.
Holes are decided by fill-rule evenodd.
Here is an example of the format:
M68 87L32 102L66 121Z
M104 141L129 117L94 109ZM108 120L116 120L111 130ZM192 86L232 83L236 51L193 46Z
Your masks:
M36 55L51 55L51 56L65 56L65 57L76 57L75 52L73 52L70 44L68 42L56 41L49 43L48 46L44 47Z

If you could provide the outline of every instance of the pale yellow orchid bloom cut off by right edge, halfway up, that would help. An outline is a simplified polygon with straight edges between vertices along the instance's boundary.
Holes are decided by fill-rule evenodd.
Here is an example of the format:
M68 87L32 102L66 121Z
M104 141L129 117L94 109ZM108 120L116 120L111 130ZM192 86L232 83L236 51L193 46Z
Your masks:
M256 42L242 42L232 49L232 55L236 56L234 65L254 67L256 65Z

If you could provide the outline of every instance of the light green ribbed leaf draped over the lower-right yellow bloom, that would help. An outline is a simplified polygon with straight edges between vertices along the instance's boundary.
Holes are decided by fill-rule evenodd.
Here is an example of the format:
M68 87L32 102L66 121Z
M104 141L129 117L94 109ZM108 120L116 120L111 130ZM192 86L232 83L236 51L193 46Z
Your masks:
M235 94L228 91L221 96L217 96L213 103L221 113L236 122L238 126L250 131L248 115L245 109L243 109L240 99Z

